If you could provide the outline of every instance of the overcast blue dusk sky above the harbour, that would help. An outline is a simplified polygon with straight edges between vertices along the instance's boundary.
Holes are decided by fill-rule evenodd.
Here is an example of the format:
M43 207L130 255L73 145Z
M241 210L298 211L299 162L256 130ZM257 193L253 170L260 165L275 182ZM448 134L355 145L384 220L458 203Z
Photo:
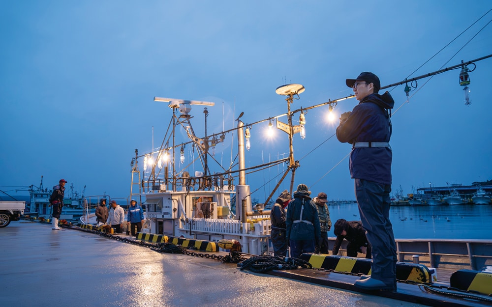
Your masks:
M286 112L275 93L282 84L306 87L298 109L351 95L345 79L362 71L387 85L492 54L491 12L410 76L491 8L487 0L2 1L0 189L15 194L43 175L45 187L65 178L86 195L126 197L135 148L150 151L153 135L160 145L171 115L154 96L215 102L208 133L219 132L240 112L246 123ZM393 190L492 179L492 58L476 65L470 106L460 70L420 80L409 104L403 86L391 91L395 108L404 104L392 119ZM295 184L354 199L348 159L327 174L350 145L332 137L326 109L310 110L306 139L294 138L296 160L317 147ZM192 111L198 135L202 111ZM235 144L228 136L217 158L229 161L223 153ZM266 139L255 126L246 164L287 150L285 134ZM262 187L253 196L264 199L278 172L249 175L252 190Z

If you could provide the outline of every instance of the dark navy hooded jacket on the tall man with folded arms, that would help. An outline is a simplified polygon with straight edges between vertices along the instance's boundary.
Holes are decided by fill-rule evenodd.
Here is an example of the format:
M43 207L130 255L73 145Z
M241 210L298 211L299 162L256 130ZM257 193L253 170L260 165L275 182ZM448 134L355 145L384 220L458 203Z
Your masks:
M347 120L337 128L337 139L342 143L389 142L391 121L389 110L395 101L388 92L370 94L354 107ZM352 178L391 184L390 147L357 147L350 153L350 176Z

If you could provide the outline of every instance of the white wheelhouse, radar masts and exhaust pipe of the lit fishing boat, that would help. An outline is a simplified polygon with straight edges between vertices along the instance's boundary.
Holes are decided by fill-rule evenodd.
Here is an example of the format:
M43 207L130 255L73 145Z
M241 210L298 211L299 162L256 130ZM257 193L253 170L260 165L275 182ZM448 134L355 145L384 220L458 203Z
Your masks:
M131 198L145 198L149 231L173 237L218 241L238 240L243 251L252 254L272 252L270 238L270 211L265 204L276 195L281 182L291 173L290 191L294 185L295 169L299 162L294 160L293 136L303 133L303 124L292 124L296 112L304 116L303 110L291 111L296 96L304 92L301 84L286 84L277 88L277 94L286 96L287 123L276 118L261 120L245 125L241 120L244 113L236 119L237 126L226 131L207 135L207 107L213 102L159 98L154 101L166 102L172 111L168 132L159 148L139 155L135 150L132 158ZM192 107L204 107L205 136L195 135L191 125ZM288 135L289 156L260 166L246 167L245 150L250 148L250 129L261 122L276 122L277 129ZM214 156L215 146L229 140L232 132L237 136L237 162L224 167ZM185 139L178 141L178 137ZM186 158L188 157L188 158ZM142 165L143 171L139 168ZM189 159L191 162L186 161ZM200 165L196 170L194 162ZM276 187L262 203L253 205L250 187L246 184L246 171L287 164L283 176ZM238 167L239 169L235 169ZM195 171L193 171L195 169ZM143 179L141 174L143 173ZM275 198L274 198L275 199Z

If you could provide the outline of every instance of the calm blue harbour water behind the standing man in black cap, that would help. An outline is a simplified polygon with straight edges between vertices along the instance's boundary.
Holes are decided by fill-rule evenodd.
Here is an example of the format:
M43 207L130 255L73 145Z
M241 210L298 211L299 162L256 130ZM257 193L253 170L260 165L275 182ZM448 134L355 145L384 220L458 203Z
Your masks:
M356 203L328 208L333 224L360 220ZM492 205L394 206L390 220L396 239L492 239Z

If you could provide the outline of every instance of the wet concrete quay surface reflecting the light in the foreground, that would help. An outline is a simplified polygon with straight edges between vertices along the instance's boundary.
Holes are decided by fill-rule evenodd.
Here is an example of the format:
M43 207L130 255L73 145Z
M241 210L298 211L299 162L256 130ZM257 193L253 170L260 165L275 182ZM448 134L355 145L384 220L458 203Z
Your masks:
M435 295L425 301L427 294L411 284L399 283L398 292L361 293L353 287L356 276L318 270L255 274L237 264L158 253L45 223L10 223L0 229L0 240L6 307L490 306Z

